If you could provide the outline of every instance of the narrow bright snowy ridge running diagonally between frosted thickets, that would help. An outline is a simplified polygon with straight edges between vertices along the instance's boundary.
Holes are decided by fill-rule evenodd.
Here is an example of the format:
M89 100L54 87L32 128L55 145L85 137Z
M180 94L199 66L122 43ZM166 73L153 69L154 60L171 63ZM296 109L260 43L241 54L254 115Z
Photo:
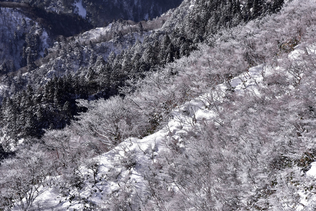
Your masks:
M146 193L146 182L142 173L157 162L157 155L168 150L170 144L181 145L181 136L192 126L197 126L201 120L212 120L217 115L212 106L213 102L221 102L228 89L234 89L240 94L246 89L256 90L263 80L264 71L265 74L268 72L266 69L264 65L250 68L247 72L218 85L214 92L185 103L173 112L174 118L162 130L143 139L128 138L111 151L95 158L94 162L99 165L96 184L92 184L92 170L82 166L79 171L84 172L86 178L82 190L69 190L69 195L63 197L52 187L39 196L34 204L40 204L42 209L78 210L89 206L88 204L97 204L102 208L106 207L105 199L122 185L129 185L134 192ZM163 177L163 174L160 176ZM175 187L171 188L176 190Z

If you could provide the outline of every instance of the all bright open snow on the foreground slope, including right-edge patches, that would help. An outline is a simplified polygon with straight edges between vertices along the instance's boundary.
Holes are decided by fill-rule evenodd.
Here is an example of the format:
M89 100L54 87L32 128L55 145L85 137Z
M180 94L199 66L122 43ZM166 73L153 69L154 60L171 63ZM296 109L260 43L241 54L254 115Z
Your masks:
M309 50L302 51L301 49ZM296 46L295 50L289 53L288 58L300 62L304 55L313 54L313 49L313 46L307 46L307 48L304 48L304 45ZM149 189L154 188L152 186L154 184L148 180L150 171L155 171L156 179L169 181L168 191L181 192L184 189L179 187L176 181L172 181L170 175L168 176L164 171L159 171L161 158L174 146L178 146L179 150L186 148L183 137L196 128L202 128L203 124L213 121L217 125L224 124L218 121L220 120L219 110L222 110L221 106L218 105L227 101L230 93L234 92L241 98L246 93L261 96L260 90L268 86L266 78L280 72L284 72L286 80L294 79L293 75L288 74L282 68L272 68L261 64L217 85L211 92L186 102L174 110L173 119L162 130L143 139L128 138L109 152L92 160L87 160L87 165L81 166L78 170L78 175L84 178L81 181L82 188L80 190L69 187L69 190L61 194L58 185L45 187L33 204L40 206L41 210L83 210L89 207L101 210L112 206L109 202L118 197L136 200L137 197L148 195L147 199L150 201L153 197L155 198L155 196L149 196L151 193ZM289 90L295 90L292 84L288 86ZM312 163L311 166L311 169L303 175L307 180L316 176L315 163ZM56 178L55 183L58 184L58 178ZM126 196L119 196L118 193L122 189L127 191L127 193L125 192ZM303 205L298 210L310 207L315 201L313 197L303 192L302 190L300 194ZM246 202L241 201L240 203ZM137 209L135 204L131 204L130 208L131 210Z

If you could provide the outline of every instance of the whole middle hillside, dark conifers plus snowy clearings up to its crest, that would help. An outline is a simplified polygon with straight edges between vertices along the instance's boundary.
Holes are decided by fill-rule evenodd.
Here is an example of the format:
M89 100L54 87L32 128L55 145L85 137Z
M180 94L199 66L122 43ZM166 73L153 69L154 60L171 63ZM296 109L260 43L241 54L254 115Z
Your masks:
M45 57L20 69L18 77L4 76L1 97L5 102L1 110L3 134L10 137L7 142L17 143L22 138L40 137L45 129L65 127L84 110L75 104L76 99L92 100L134 92L135 84L149 72L159 71L168 63L189 56L200 42L213 45L216 32L237 25L238 21L232 24L233 20L250 21L276 12L277 9L273 9L276 2L234 2L233 11L229 9L232 6L229 1L185 1L176 10L152 21L135 23L119 19L113 21L111 27L69 38L58 37L54 46L44 52ZM252 12L243 11L245 5ZM210 10L216 7L228 10ZM220 17L217 31L209 24L188 24L200 22L200 17L213 25L217 22L212 22L212 18ZM102 32L100 36L94 35L97 31ZM243 65L260 62L261 57L253 60L250 55L246 54ZM11 91L9 87L16 84L23 85ZM12 111L23 112L12 117ZM140 136L157 129L159 122L153 122L154 126L141 131Z

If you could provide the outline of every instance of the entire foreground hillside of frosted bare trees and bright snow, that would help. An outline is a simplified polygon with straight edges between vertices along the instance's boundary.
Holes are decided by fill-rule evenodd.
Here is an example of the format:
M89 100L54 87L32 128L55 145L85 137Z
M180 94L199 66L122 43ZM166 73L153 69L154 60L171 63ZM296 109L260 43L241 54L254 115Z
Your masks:
M126 80L124 98L77 100L87 109L77 121L28 139L1 163L1 206L313 210L315 11L313 1L291 1ZM119 65L125 55L98 63ZM43 97L59 97L68 80L53 79ZM22 99L42 102L32 92Z

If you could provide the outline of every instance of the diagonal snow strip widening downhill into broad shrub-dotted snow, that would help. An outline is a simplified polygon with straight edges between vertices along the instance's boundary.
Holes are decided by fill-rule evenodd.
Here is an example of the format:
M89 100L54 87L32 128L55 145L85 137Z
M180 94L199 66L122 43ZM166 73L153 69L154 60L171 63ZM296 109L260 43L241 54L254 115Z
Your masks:
M150 200L159 200L155 196L155 191L157 191L155 189L156 186L162 186L160 181L167 185L166 191L175 192L175 194L182 188L184 191L184 187L180 188L179 181L169 178L168 173L171 172L162 171L162 167L167 166L167 163L162 161L165 159L164 156L170 156L169 154L173 153L175 148L178 150L191 148L191 143L187 142L186 138L193 130L201 130L201 127L205 126L203 124L210 124L213 119L218 118L218 112L212 101L222 104L227 97L226 94L229 93L228 87L232 87L238 95L244 95L249 90L259 94L258 84L263 82L263 77L271 74L273 74L271 68L264 70L264 66L259 65L232 78L229 82L217 85L216 92L199 96L173 111L173 119L162 130L143 139L128 138L106 154L89 160L89 166L82 166L79 169L84 178L81 190L69 190L66 194L68 197L62 197L56 194L58 190L54 186L44 188L40 190L43 192L34 203L43 204L44 209L82 209L92 206L96 209L136 210L139 206L142 207L143 203L153 203L146 202L148 200L146 198L150 195L152 196L149 197ZM186 144L188 146L185 146ZM209 146L207 148L210 150ZM178 170L181 171L181 169ZM156 178L152 178L153 176ZM121 196L121 194L124 195ZM49 204L49 206L44 204ZM147 206L151 205L147 204L145 207ZM175 207L172 205L169 209L174 210Z

